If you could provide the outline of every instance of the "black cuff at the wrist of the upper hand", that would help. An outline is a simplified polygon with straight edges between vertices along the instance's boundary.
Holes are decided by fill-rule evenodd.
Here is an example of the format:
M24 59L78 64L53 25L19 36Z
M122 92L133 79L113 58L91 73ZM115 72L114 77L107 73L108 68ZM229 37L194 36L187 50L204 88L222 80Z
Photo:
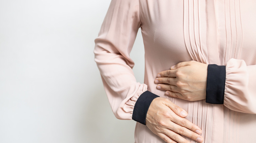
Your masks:
M208 65L206 103L223 104L226 80L226 66Z

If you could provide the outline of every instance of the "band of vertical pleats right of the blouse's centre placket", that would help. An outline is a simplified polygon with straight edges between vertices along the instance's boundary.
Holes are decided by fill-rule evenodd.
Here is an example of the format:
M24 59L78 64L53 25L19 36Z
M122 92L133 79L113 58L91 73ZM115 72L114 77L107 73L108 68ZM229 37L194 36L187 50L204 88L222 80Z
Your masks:
M230 58L239 58L243 46L243 28L241 21L240 0L220 0L219 9L223 11L219 13L219 29L220 38L220 59L222 65Z

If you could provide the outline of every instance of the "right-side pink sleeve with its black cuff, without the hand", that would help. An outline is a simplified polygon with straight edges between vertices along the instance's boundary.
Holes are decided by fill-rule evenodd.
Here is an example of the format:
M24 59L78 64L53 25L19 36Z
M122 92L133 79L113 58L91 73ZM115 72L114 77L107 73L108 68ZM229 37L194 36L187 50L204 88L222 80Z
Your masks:
M206 102L256 114L256 65L230 59L226 66L208 65ZM208 89L207 89L208 88Z

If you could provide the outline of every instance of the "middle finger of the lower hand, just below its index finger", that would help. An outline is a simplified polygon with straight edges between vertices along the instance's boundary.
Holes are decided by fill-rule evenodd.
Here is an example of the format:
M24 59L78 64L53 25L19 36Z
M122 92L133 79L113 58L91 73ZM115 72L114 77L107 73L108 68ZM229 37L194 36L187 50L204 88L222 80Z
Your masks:
M187 137L189 137L189 138L191 138L195 141L203 142L203 137L201 135L199 135L199 134L197 134L197 133L195 133L195 132L193 132L193 131L185 128L185 127L182 127L178 124L172 125L172 129L170 129L170 130L173 130L174 132L176 132L180 135L185 135L185 136L187 136ZM176 140L176 141L178 141L178 140Z

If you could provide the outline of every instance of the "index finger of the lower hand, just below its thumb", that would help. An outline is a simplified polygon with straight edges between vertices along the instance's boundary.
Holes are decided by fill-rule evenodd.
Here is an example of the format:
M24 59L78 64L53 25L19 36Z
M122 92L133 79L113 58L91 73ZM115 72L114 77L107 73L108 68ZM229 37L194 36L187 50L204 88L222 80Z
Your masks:
M195 124L193 124L192 122L190 122L189 120L185 119L185 118L181 118L179 116L173 116L174 118L172 118L171 120L173 122L175 122L176 124L182 126L182 127L185 127L197 134L201 134L202 133L202 130ZM188 136L190 137L190 136Z

